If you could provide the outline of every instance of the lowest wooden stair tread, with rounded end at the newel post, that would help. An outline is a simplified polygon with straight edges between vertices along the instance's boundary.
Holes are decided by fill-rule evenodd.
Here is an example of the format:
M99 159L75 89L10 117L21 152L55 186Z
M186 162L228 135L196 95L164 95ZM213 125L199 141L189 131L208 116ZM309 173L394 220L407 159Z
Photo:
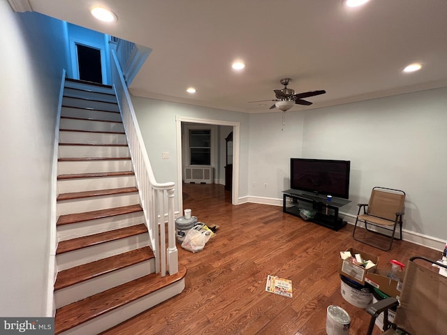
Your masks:
M179 265L179 271L172 276L161 277L159 274L149 274L58 308L54 318L54 334L65 332L67 329L149 295L182 280L184 276L186 276L186 267Z

